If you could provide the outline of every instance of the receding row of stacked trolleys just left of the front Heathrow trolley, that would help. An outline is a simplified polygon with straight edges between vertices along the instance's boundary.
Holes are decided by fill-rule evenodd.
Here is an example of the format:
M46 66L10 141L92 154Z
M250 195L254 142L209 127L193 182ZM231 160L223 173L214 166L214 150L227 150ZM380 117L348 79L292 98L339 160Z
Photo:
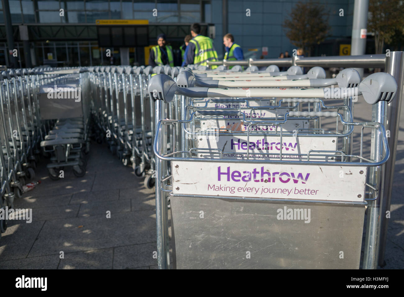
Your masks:
M96 141L105 141L122 164L131 165L144 184L154 188L154 101L147 95L147 84L155 74L179 73L179 67L90 67L93 94L93 122ZM177 117L171 110L170 117ZM170 145L168 145L170 147Z

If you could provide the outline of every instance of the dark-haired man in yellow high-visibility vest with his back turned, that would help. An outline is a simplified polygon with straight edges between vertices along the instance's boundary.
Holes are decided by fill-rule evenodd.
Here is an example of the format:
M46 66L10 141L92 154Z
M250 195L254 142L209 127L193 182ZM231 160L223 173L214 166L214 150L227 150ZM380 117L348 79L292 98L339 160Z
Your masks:
M198 23L191 25L191 36L187 48L185 48L184 59L182 66L195 64L207 65L208 61L217 61L217 53L213 46L213 41L209 37L200 34L201 26ZM212 69L217 66L212 66Z

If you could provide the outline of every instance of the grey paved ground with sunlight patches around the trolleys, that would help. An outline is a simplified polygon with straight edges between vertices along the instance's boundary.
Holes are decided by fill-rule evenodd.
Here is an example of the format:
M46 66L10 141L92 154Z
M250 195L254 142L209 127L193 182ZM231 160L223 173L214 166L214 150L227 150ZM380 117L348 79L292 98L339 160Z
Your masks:
M369 119L370 110L358 103L355 120ZM404 268L403 111L404 106L384 269ZM15 208L33 210L33 221L8 222L0 239L0 268L157 268L154 192L145 189L130 167L97 144L82 178L66 170L64 179L52 181L45 164L37 172L42 183L15 201Z

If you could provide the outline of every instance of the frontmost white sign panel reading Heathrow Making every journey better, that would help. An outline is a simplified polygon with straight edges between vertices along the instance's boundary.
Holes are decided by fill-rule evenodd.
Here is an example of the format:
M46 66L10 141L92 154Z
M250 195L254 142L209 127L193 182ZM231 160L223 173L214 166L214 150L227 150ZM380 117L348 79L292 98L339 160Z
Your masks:
M172 166L173 194L364 201L366 166L206 161L173 161Z

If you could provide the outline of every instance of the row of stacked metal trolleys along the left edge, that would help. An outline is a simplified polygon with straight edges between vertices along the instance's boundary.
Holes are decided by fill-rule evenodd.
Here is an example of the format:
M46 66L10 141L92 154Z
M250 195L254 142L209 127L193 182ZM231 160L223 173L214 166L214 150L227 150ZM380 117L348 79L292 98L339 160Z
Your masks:
M40 107L38 89L61 76L49 71L11 69L0 74L1 208L14 208L14 200L23 195L25 184L35 181L40 143L54 123L41 118L41 110L44 114L46 108ZM0 220L0 235L6 230L6 222Z

